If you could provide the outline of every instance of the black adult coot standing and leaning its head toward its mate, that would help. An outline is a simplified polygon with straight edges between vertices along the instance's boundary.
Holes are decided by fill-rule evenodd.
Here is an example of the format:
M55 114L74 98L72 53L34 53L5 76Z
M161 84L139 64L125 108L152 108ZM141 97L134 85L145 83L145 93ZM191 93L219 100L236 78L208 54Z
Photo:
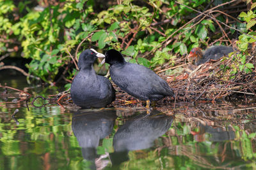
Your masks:
M106 52L103 62L110 64L109 73L114 83L131 96L147 101L147 109L150 101L174 96L168 83L151 69L125 62L123 55L114 49Z

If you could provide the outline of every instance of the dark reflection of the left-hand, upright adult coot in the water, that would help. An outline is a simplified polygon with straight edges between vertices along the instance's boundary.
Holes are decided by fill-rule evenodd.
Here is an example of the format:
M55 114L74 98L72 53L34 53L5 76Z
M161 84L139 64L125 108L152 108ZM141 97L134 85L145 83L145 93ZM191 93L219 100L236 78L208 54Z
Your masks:
M115 119L115 110L81 110L72 117L72 130L82 148L84 159L92 162L91 169L102 169L108 165L109 160L104 160L104 155L97 155L97 147L100 139L111 134Z

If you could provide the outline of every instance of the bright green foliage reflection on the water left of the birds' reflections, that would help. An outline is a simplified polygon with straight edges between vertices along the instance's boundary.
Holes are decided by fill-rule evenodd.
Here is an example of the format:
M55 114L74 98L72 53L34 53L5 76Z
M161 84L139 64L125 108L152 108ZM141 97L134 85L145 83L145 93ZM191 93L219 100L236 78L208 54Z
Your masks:
M70 113L59 106L20 108L17 125L10 118L14 110L1 113L0 169L79 168L83 157L72 134Z

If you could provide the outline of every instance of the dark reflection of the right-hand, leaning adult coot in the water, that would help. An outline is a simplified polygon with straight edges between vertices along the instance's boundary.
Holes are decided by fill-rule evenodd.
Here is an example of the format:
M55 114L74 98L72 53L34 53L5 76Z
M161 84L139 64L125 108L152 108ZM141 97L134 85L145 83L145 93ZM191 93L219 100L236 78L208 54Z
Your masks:
M113 139L115 152L109 154L113 166L129 160L129 151L153 146L155 139L168 131L173 122L173 117L159 111L152 111L150 116L145 115L147 112L141 113L139 117L130 118L116 132Z

